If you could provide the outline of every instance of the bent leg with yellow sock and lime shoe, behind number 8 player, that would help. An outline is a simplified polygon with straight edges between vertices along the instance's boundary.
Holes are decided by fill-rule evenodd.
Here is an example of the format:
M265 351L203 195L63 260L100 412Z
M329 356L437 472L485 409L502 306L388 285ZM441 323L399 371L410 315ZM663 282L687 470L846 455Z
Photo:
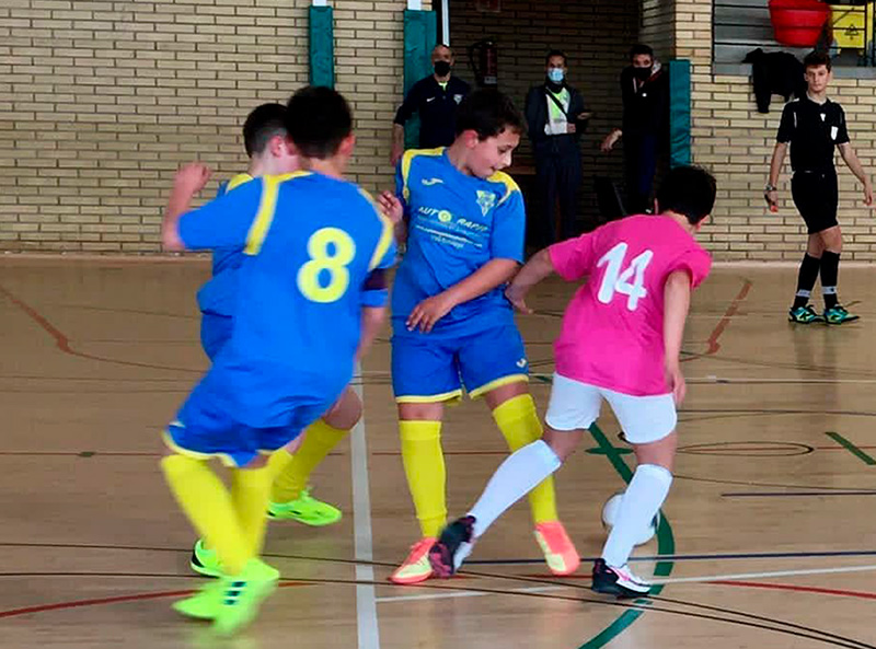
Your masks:
M313 470L356 426L361 415L361 399L348 386L331 409L308 428L295 453L284 448L270 456L275 476L268 505L272 518L314 526L341 520L339 509L311 496L308 482Z

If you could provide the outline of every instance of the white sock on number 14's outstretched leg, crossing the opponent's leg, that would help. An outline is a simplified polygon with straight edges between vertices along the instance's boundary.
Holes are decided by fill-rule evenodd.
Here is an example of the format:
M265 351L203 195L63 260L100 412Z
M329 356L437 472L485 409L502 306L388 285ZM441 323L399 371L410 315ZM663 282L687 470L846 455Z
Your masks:
M475 538L486 532L506 509L539 486L562 464L544 440L534 441L508 455L469 512L475 519Z

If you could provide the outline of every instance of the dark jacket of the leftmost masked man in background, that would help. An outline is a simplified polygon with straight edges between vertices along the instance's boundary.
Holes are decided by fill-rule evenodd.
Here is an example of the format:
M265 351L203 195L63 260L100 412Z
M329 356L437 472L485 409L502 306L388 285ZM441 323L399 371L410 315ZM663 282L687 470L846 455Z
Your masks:
M447 88L433 74L417 81L407 92L404 103L395 113L395 124L404 123L419 113L419 148L447 147L456 139L457 106L469 94L469 84L450 76Z

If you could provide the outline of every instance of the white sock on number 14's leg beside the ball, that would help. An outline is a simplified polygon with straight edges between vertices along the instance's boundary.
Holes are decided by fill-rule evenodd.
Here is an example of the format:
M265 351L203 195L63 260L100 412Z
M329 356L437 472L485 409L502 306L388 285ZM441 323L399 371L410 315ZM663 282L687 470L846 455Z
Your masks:
M602 558L609 566L620 568L630 558L639 532L650 524L669 494L672 474L657 464L639 464L618 509L614 526L609 533Z

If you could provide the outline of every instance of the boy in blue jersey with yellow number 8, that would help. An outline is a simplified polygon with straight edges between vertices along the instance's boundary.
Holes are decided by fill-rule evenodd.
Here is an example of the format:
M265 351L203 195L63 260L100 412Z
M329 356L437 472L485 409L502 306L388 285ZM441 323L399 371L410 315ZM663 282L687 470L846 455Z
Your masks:
M188 211L209 171L176 175L162 235L168 250L241 246L231 336L164 433L164 476L223 575L174 605L220 633L249 623L279 573L261 554L270 489L264 453L295 450L328 410L377 334L394 260L392 224L342 178L355 143L344 97L306 88L286 126L307 172L265 176ZM231 488L210 468L231 467Z

